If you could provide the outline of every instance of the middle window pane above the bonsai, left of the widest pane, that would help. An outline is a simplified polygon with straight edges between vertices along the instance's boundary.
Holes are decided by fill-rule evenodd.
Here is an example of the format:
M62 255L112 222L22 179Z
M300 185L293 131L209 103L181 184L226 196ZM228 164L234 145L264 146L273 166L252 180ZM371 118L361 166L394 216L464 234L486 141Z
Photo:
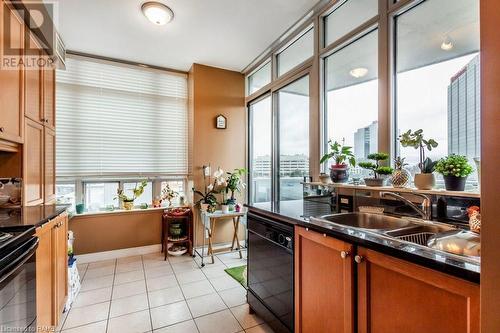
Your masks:
M332 140L353 147L358 162L378 149L377 33L374 30L325 59L325 143Z

